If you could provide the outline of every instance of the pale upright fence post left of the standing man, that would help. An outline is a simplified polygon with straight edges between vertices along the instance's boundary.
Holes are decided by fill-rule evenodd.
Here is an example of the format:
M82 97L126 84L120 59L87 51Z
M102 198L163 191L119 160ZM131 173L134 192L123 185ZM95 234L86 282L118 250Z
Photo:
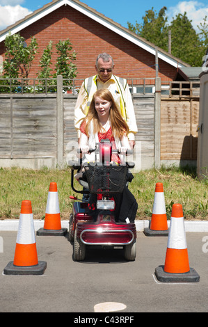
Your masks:
M57 76L57 164L63 166L63 77Z

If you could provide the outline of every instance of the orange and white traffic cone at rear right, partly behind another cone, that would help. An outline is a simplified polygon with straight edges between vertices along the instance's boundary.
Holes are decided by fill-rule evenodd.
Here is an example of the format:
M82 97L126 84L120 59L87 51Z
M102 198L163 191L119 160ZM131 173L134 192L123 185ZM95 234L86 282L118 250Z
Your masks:
M168 222L163 184L156 183L150 228L144 229L146 236L168 236Z

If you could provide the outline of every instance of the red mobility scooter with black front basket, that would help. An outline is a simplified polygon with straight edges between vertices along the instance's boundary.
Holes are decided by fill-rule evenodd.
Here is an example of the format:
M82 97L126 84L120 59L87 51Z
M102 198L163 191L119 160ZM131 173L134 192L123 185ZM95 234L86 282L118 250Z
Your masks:
M96 196L97 200L95 207L83 200L74 202L70 214L68 240L74 241L73 257L76 261L85 260L88 246L123 247L125 260L133 261L136 257L136 225L128 219L127 223L115 221L113 194L115 196L115 193L122 193L127 184L127 171L134 168L134 163L111 163L112 152L118 151L112 150L108 140L103 141L97 143L95 149L89 150L95 151L95 162L82 163L85 173L83 179L79 179L83 186L81 191L74 189L74 170L79 171L81 164L79 161L68 162L72 170L72 190L81 194L90 193L89 196ZM77 200L74 196L70 198Z

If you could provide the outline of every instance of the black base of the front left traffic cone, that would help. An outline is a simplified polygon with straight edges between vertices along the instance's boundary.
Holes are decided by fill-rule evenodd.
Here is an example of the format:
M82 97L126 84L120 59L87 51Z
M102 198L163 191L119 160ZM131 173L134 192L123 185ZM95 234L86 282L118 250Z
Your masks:
M13 261L10 261L3 269L4 275L43 275L47 263L39 261L35 266L15 266Z

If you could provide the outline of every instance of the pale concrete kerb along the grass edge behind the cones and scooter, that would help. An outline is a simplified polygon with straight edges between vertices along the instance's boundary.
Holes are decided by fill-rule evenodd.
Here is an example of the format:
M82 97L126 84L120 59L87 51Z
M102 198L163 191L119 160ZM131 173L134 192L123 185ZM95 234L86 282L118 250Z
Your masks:
M35 231L39 228L43 228L44 221L34 219ZM186 232L208 232L208 221L185 221ZM150 221L147 220L136 220L136 231L143 232L145 228L150 227ZM0 232L1 231L17 231L19 225L19 219L4 219L0 221ZM61 227L67 228L68 230L69 221L61 221ZM170 221L168 221L168 228Z

